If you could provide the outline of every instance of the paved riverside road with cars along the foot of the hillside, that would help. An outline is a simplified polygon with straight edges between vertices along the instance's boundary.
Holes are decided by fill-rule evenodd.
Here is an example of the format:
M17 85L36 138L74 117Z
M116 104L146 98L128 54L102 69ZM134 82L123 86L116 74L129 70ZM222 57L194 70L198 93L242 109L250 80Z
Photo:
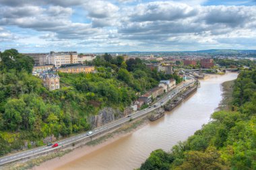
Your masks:
M59 146L53 148L52 146L41 146L38 148L33 148L28 151L16 153L13 155L9 155L6 157L1 157L0 158L0 165L3 165L5 163L10 163L13 161L17 161L19 159L24 159L26 157L32 157L34 155L38 155L40 153L48 152L55 150L57 148L61 148L61 146L64 146L66 144L71 144L73 142L77 142L79 140L83 140L85 138L90 138L94 137L99 133L106 132L114 127L118 127L120 124L123 124L125 122L128 122L131 118L135 119L139 116L143 116L144 114L148 114L148 112L152 112L152 110L156 110L157 108L160 108L161 105L164 105L165 103L168 102L168 100L172 99L175 97L180 91L182 91L185 87L191 85L192 83L195 83L195 79L193 77L189 77L190 79L181 83L179 86L175 87L172 91L168 92L164 97L160 98L156 103L154 103L154 106L151 106L151 108L146 108L145 110L141 110L138 112L135 112L131 115L130 118L121 118L119 120L116 120L114 122L110 122L109 124L106 124L104 126L101 126L99 128L95 128L92 130L92 134L90 136L87 136L87 133L82 133L82 134L77 134L76 136L72 136L70 138L65 138L64 140L58 141Z

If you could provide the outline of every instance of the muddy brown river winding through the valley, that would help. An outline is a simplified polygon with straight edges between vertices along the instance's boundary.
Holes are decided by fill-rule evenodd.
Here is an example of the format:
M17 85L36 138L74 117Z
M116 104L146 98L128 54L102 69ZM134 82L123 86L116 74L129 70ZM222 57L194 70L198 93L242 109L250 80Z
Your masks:
M209 122L210 115L222 100L221 84L236 79L237 75L237 73L227 73L222 76L210 75L207 79L200 81L201 87L196 93L171 112L166 112L164 117L92 153L82 155L73 161L66 160L66 163L61 163L62 165L55 169L100 170L140 167L152 151L157 148L170 151L174 144L186 140L203 124ZM49 164L44 168L49 169Z

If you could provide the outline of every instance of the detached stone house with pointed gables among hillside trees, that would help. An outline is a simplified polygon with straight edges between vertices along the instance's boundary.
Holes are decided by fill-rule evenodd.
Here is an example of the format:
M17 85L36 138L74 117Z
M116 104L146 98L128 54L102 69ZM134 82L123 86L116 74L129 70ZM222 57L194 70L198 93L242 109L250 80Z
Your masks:
M60 88L59 75L44 74L44 75L40 75L40 78L44 82L44 87L46 87L50 91Z

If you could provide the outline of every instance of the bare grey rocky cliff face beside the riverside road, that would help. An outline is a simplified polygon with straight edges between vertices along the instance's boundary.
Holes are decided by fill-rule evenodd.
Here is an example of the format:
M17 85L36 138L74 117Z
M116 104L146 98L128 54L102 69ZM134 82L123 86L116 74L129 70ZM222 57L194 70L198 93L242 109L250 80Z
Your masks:
M103 126L109 122L113 122L119 118L123 118L125 114L120 110L114 110L113 108L103 108L98 115L90 117L90 124L93 128Z

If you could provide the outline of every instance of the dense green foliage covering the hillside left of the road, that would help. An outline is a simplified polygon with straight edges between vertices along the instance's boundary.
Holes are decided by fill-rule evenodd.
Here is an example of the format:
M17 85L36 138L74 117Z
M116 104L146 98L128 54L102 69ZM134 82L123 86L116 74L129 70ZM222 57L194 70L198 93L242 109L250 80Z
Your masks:
M48 91L32 76L34 60L17 50L5 50L0 62L0 155L42 145L42 139L89 130L90 116L104 107L123 111L140 93L158 85L164 75L146 68L140 59L98 56L88 65L97 73L59 73L61 89Z

